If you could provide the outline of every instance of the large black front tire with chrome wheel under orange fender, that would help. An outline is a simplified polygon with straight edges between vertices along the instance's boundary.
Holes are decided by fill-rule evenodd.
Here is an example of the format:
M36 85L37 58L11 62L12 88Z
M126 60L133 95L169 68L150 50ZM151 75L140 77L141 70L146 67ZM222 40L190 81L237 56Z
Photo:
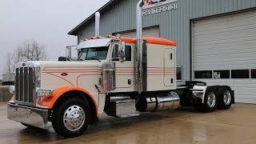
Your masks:
M82 99L67 98L54 106L52 125L56 133L64 138L82 135L89 123L89 105Z

